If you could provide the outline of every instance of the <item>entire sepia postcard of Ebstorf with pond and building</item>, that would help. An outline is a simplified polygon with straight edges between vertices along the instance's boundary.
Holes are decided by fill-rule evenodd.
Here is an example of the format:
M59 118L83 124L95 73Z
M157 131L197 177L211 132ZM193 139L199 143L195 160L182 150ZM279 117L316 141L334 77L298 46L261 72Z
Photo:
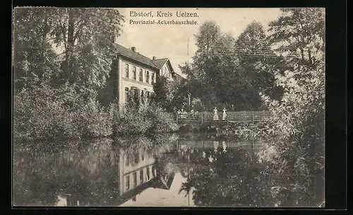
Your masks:
M13 9L13 207L325 207L325 8Z

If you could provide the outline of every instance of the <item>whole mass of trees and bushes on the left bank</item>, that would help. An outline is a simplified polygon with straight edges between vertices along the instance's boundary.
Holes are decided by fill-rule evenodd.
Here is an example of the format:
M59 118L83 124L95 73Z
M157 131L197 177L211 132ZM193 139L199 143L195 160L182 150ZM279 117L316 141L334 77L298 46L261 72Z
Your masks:
M177 130L155 104L118 110L113 41L123 22L114 8L14 9L16 139Z

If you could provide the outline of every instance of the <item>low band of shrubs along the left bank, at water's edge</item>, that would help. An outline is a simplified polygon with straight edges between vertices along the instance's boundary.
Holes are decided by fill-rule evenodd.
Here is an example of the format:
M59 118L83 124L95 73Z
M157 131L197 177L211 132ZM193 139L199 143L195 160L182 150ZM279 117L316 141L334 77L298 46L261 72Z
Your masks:
M176 132L174 116L155 104L129 103L102 106L95 99L85 101L72 87L47 86L21 90L14 98L14 137L17 140L151 135Z

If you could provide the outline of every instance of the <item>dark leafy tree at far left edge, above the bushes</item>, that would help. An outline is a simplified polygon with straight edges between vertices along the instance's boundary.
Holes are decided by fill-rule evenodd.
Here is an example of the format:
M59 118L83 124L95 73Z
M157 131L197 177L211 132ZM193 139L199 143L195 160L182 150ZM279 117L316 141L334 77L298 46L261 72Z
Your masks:
M59 73L49 41L55 18L52 8L15 8L13 68L15 89L35 87Z

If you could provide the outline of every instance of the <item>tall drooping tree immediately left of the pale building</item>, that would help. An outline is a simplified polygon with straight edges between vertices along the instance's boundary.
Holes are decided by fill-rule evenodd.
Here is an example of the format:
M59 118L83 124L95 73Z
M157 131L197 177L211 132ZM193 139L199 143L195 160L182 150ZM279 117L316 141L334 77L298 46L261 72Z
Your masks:
M60 8L52 30L54 44L63 49L64 79L88 89L104 86L123 17L112 8Z

